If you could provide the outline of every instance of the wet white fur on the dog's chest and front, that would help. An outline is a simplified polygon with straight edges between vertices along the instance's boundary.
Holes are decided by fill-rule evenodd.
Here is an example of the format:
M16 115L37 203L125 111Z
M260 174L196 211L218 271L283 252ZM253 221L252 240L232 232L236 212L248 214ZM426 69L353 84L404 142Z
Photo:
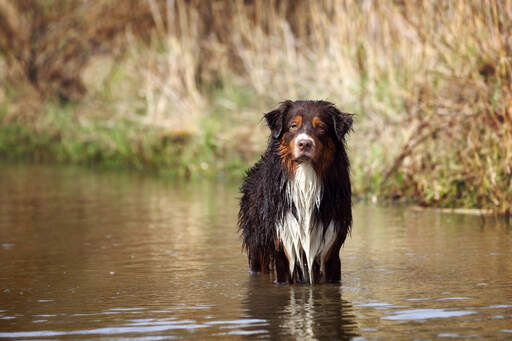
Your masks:
M313 263L318 260L320 271L325 272L325 256L336 235L332 223L324 235L322 223L313 219L315 208L320 207L322 183L309 162L298 166L293 180L288 183L287 194L296 207L296 216L288 211L282 224L277 226L278 237L290 263L290 276L295 264L300 266L302 273L307 266L310 283L313 283Z

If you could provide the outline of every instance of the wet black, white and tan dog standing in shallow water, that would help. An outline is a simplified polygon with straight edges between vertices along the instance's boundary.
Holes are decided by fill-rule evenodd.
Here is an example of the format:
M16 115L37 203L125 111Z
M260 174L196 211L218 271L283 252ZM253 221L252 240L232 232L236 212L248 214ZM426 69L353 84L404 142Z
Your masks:
M340 282L352 226L345 137L353 115L327 101L290 101L264 115L270 136L240 188L238 228L251 272L277 283Z

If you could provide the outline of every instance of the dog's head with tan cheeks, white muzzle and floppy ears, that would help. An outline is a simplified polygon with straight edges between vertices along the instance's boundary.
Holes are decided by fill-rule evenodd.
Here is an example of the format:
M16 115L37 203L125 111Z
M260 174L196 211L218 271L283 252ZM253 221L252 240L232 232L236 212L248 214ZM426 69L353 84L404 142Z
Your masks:
M311 162L321 175L352 127L352 115L326 101L285 101L265 119L291 175L301 162Z

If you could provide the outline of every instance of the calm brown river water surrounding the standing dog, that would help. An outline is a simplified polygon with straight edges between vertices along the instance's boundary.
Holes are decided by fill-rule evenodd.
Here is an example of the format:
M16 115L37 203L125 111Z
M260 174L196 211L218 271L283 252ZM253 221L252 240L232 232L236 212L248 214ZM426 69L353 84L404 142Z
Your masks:
M237 185L1 165L0 339L512 339L512 228L354 207L340 285L248 273Z

